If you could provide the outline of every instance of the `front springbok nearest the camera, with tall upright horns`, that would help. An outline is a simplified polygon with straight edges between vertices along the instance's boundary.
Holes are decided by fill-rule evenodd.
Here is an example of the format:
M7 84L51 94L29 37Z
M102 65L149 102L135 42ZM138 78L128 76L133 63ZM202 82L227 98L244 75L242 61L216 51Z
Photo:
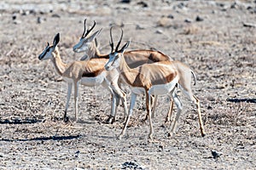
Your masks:
M123 37L123 30L121 30L121 37L119 42L121 42ZM110 30L111 32L111 30ZM110 36L111 33L110 33ZM132 115L132 109L135 104L137 94L146 94L146 106L148 112L148 120L150 125L150 132L148 138L153 140L153 125L151 120L151 95L163 95L171 94L172 100L175 105L177 105L177 116L172 123L171 135L175 132L176 124L178 118L183 110L183 104L181 100L177 97L176 86L180 88L184 94L186 94L191 101L194 101L197 106L199 123L201 129L201 135L205 136L203 123L201 120L201 108L200 100L192 94L190 87L191 83L191 73L195 79L195 73L189 68L188 65L184 65L179 61L160 61L152 64L140 65L136 68L130 68L127 65L124 57L125 49L129 46L130 41L126 42L125 45L119 48L119 43L113 50L113 43L110 43L112 52L109 54L108 63L105 65L107 71L112 71L116 69L119 72L119 76L126 82L131 88L131 105L129 109L129 114L126 116L125 126L122 132L119 134L119 139L125 134L127 124Z

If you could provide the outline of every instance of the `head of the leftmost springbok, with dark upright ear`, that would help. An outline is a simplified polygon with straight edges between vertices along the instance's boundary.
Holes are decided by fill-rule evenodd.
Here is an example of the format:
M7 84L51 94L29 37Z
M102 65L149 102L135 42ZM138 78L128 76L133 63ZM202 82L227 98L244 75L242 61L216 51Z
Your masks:
M49 42L47 42L46 48L44 48L44 51L38 56L38 59L40 60L52 59L53 53L55 52L55 48L59 42L60 42L60 33L57 33L55 35L52 45L49 45Z

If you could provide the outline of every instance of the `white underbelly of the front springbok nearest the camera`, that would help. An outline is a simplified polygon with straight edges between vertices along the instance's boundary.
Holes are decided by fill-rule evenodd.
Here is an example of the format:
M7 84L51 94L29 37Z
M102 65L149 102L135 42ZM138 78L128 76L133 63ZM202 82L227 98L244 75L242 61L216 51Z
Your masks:
M178 77L175 77L172 80L172 82L152 86L151 88L149 88L148 92L149 94L154 94L154 95L169 94L172 91L172 89L175 88L177 82L178 82Z

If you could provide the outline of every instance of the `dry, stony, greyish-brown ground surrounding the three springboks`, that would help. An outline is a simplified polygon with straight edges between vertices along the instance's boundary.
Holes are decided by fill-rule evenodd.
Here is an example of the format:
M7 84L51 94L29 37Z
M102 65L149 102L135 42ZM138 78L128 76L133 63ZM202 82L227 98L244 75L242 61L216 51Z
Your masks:
M256 2L124 2L0 2L0 169L255 169ZM116 139L123 108L117 122L105 123L111 99L102 87L81 87L79 122L62 122L67 85L38 54L60 32L61 58L79 60L83 54L72 47L84 18L103 28L97 38L102 53L110 50L110 26L119 24L124 41L131 39L129 50L156 48L188 64L197 76L193 91L201 99L206 137L195 105L180 93L177 133L168 136L169 99L162 96L154 142L143 122L143 97L125 137ZM119 30L113 34L119 38ZM74 117L73 98L68 116Z

